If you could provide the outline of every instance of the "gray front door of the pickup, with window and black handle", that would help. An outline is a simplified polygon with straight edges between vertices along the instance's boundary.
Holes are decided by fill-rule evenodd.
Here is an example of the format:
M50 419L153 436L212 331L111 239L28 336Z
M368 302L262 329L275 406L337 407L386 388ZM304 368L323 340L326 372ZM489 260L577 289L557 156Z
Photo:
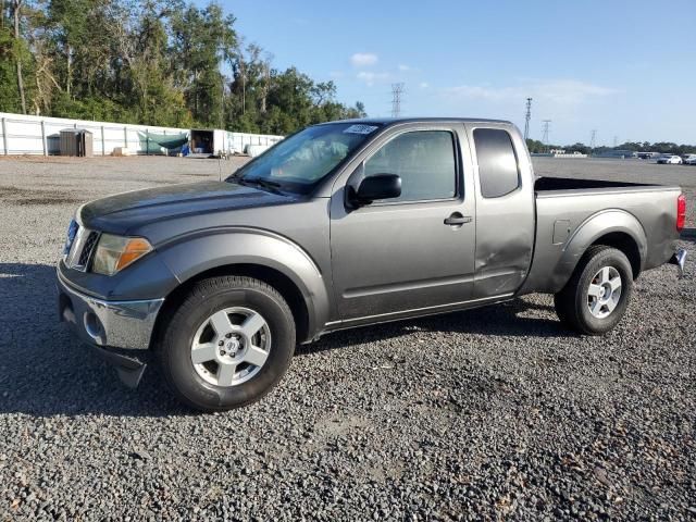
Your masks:
M347 179L339 177L331 253L341 320L389 319L471 298L475 201L471 182L464 183L460 130L401 126L383 136ZM350 209L345 187L374 174L399 175L401 196Z

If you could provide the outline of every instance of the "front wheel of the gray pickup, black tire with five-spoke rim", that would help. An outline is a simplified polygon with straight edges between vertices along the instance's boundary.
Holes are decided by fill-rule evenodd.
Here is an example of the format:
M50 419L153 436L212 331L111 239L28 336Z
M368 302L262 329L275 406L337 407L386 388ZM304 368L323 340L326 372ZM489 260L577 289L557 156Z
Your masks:
M173 313L160 364L183 403L223 411L268 394L295 343L293 312L275 288L251 277L212 277L196 283Z

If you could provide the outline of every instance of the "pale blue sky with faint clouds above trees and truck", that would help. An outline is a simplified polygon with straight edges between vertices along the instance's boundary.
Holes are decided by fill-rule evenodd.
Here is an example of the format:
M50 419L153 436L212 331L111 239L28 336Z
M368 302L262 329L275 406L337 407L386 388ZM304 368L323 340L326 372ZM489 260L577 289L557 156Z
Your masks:
M197 0L200 5L207 3ZM405 116L505 119L552 144L696 144L694 0L221 0L236 29L338 101Z

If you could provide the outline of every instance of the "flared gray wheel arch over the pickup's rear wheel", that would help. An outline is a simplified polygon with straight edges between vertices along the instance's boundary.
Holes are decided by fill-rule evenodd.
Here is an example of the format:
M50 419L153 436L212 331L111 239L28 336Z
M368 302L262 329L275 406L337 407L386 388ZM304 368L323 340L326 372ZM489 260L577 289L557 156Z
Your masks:
M600 237L617 232L627 234L635 241L641 254L641 268L643 268L648 241L641 222L624 210L602 210L582 222L563 245L560 259L551 276L556 291L566 286L568 279L573 275L575 266L577 266L591 245Z

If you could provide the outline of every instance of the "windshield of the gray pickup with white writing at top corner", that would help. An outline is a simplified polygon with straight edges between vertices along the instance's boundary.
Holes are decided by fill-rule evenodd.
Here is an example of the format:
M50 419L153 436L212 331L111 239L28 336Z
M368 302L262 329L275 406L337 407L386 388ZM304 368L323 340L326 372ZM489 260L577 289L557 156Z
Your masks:
M308 127L278 142L226 181L308 194L377 128L355 123Z

